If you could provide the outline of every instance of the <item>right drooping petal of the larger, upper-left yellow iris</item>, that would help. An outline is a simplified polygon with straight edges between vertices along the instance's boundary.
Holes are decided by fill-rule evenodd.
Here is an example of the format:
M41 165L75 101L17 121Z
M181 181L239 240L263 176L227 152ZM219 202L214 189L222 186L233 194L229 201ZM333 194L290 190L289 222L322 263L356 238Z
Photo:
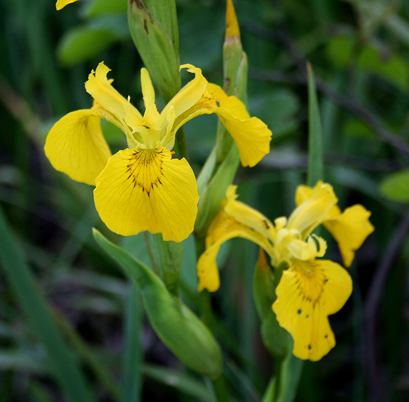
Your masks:
M249 116L244 104L234 96L227 96L220 86L208 84L201 99L174 123L181 125L200 114L216 113L229 131L240 153L243 166L253 167L270 151L271 131L257 117Z

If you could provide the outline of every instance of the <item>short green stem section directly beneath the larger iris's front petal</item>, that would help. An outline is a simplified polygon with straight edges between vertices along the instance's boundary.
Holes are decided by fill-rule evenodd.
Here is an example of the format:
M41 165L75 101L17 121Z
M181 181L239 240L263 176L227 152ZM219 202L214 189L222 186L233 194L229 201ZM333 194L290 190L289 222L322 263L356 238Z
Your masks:
M162 280L168 291L177 297L180 267L183 258L183 244L172 241L165 242L161 233L153 234L152 237L156 241Z

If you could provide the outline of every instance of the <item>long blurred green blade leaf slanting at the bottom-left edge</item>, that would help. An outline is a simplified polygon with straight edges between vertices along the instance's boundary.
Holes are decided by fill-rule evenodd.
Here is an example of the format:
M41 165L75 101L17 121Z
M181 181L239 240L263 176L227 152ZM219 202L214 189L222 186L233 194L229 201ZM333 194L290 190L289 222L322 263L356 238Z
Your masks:
M24 253L9 230L1 209L0 262L35 335L47 351L53 376L62 391L72 402L94 402L94 395L80 371L78 362L58 332L46 301L24 259Z

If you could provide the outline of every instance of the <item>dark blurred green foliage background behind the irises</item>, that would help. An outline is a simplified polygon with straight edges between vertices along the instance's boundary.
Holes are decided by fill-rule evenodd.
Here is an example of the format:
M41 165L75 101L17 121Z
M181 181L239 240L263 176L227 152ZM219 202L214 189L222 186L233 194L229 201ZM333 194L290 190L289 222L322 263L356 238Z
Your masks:
M221 84L224 1L176 3L180 62ZM234 3L249 60L248 109L273 132L270 154L238 172L240 200L270 219L294 207L307 168L309 60L320 93L325 179L341 207L362 203L371 210L376 228L350 269L352 297L330 318L337 345L320 362L305 364L296 400L408 400L409 3ZM51 126L92 104L84 82L100 61L112 69L119 92L142 105L142 63L126 7L126 0L81 0L57 12L53 0L0 0L0 204L98 400L126 400L121 389L132 393L132 387L140 390L139 400L212 400L206 384L158 340L142 307L125 322L134 290L91 228L148 263L143 235L110 233L95 210L93 188L54 171L43 153ZM213 147L216 124L215 116L202 116L185 126L196 174ZM122 133L103 128L112 150L123 147ZM323 235L328 258L339 262ZM192 238L185 250L181 294L196 309ZM222 251L222 286L212 300L216 335L235 400L259 401L274 366L260 340L251 292L257 248L233 240ZM139 352L129 373L131 340ZM28 400L65 399L0 269L0 401Z

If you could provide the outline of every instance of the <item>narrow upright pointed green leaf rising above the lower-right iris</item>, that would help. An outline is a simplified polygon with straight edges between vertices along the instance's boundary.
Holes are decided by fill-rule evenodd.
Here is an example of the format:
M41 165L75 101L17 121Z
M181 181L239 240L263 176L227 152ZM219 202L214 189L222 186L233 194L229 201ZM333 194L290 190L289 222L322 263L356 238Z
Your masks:
M313 187L324 180L323 134L320 108L316 97L314 73L307 63L308 76L308 171L307 185Z

